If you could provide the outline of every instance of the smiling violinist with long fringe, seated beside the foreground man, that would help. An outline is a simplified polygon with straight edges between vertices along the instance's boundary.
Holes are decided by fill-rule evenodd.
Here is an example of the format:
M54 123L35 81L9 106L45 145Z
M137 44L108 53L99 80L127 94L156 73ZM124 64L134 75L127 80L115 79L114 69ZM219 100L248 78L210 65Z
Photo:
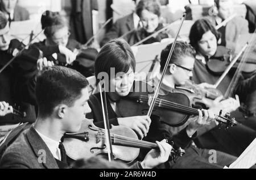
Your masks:
M111 53L110 53L111 52ZM115 70L115 72L110 72L110 68ZM177 135L172 135L168 127L159 121L159 117L152 115L150 119L148 116L133 116L128 118L122 118L118 108L118 102L121 98L127 97L129 95L131 87L134 83L134 72L135 72L135 58L133 52L123 40L113 40L106 44L98 54L95 64L95 72L97 81L101 74L108 74L108 78L105 83L109 83L110 91L107 93L107 104L109 112L109 121L112 125L125 125L133 129L139 137L145 137L144 140L156 141L162 139L168 139L169 142L174 140L176 146L181 146L185 148L191 144L192 139L196 136L196 129L201 125L207 124L212 121L213 115L211 112L204 111L205 116L203 117L201 111L199 111L200 116L194 118L193 122L184 128ZM117 75L118 74L118 75ZM115 77L115 76L116 77ZM112 77L114 76L114 77ZM92 109L92 114L88 114L88 119L94 119L94 124L98 127L104 128L104 123L102 122L102 110L100 94L95 94L90 97L89 106ZM129 111L129 107L127 107ZM231 164L235 157L229 156L228 154L220 153L220 162L217 164L210 164L208 162L207 155L205 157L203 154L207 150L195 152L192 146L189 146L188 152L184 157L178 158L177 164L172 164L164 166L164 168L223 168L224 165ZM143 157L143 149L141 149ZM197 151L196 151L197 152ZM193 156L192 156L192 155ZM208 154L208 153L207 153ZM208 154L209 155L209 154ZM161 166L162 167L162 166Z

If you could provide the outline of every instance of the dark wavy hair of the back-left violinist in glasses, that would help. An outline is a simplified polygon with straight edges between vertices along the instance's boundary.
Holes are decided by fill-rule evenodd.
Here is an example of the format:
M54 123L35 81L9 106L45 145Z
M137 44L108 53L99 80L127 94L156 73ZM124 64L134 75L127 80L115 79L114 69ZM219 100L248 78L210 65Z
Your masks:
M57 30L68 27L67 22L59 12L46 11L41 17L42 29L46 37L52 37Z

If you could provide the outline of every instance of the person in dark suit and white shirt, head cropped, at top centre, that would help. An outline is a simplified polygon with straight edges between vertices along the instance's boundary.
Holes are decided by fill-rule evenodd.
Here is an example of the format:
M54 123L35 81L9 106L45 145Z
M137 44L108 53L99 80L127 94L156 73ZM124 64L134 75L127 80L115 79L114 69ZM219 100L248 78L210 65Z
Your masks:
M136 7L139 0L133 0L134 7ZM103 47L109 41L121 37L130 31L138 30L138 28L142 27L141 21L139 16L137 15L136 11L132 12L131 14L124 16L123 18L117 19L117 21L113 24L112 28L109 32L104 36L100 45Z

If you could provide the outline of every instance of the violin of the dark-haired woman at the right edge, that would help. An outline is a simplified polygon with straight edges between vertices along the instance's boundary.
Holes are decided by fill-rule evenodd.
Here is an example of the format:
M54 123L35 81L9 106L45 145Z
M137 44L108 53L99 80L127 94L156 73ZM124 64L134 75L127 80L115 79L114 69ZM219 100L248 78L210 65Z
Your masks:
M242 68L242 72L253 73L255 71L255 55L255 52L250 52L246 61L246 65ZM210 57L209 61L207 62L207 69L210 73L216 76L221 76L232 62L233 57L234 54L230 49L223 46L218 46L215 55ZM240 65L240 62L241 58L238 59L232 68L236 70L238 65Z

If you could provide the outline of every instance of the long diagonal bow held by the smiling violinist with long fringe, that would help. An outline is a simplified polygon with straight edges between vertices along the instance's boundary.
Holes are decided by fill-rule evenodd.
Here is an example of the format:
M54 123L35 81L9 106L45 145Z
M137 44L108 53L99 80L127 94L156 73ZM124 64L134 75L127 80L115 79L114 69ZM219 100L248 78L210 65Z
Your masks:
M167 61L166 61L166 65L164 66L164 70L163 70L163 74L162 74L162 77L160 78L160 81L159 81L159 84L158 84L158 87L156 88L156 91L155 91L155 94L154 94L154 97L151 101L151 104L150 104L150 108L148 110L148 113L147 113L147 116L150 117L152 115L152 112L154 110L154 107L155 107L155 103L157 101L157 97L159 95L159 91L160 91L160 87L162 86L162 83L163 83L163 79L164 79L164 76L166 75L166 72L167 72L167 69L168 69L168 65L171 61L171 57L172 57L172 53L174 52L174 48L175 48L175 45L177 43L177 38L179 37L179 34L180 34L180 30L181 30L181 27L183 25L183 22L185 20L185 17L186 17L186 13L183 14L183 17L181 19L181 23L180 23L180 26L179 26L179 29L177 31L177 35L175 37L175 40L174 40L174 43L172 44L172 48L171 48L171 51L168 55L168 58L167 58Z

